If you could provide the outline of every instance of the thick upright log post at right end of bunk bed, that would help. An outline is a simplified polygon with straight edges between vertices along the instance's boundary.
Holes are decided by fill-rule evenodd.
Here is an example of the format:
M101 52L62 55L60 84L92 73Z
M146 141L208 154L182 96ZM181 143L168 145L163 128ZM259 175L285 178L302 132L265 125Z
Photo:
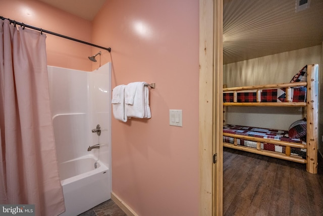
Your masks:
M307 65L307 164L306 170L317 174L318 147L318 65Z

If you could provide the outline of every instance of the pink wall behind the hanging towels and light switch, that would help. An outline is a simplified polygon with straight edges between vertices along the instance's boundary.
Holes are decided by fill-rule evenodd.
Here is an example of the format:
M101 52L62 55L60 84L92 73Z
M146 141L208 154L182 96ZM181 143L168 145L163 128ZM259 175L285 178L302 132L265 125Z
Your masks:
M156 83L151 119L112 120L113 192L142 216L198 215L198 21L197 0L109 0L93 21L94 44L112 48L101 56L112 88Z

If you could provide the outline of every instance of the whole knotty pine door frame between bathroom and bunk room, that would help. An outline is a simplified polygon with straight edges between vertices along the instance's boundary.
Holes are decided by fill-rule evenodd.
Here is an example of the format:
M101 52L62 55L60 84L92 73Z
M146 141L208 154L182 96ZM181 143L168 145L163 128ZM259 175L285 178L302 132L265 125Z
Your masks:
M223 0L199 4L199 215L223 215Z

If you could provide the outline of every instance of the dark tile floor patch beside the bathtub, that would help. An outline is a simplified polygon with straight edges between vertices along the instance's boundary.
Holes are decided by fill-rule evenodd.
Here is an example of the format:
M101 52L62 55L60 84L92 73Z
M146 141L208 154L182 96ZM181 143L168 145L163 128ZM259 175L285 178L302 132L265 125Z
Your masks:
M127 214L112 199L109 199L78 216L127 216Z

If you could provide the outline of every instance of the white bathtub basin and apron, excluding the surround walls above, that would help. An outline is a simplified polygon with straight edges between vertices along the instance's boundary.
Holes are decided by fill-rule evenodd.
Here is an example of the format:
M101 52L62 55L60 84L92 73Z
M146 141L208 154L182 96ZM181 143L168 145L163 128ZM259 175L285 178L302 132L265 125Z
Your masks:
M92 155L61 163L59 170L66 208L60 216L78 215L111 198L110 170Z

